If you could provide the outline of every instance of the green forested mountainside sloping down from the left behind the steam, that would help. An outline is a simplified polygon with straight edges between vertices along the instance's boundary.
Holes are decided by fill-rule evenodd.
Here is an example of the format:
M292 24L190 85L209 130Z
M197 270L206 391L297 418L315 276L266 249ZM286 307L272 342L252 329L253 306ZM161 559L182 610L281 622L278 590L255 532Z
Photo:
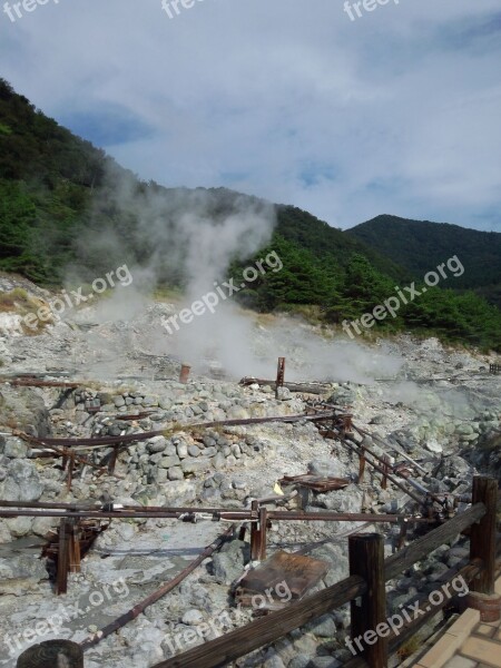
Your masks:
M76 264L89 277L101 275L114 262L115 266L125 262L147 266L156 252L148 226L153 229L160 222L164 235L168 234L173 216L196 206L200 197L206 217L214 220L232 214L243 197L254 208L262 203L225 188L169 189L141 181L0 79L0 269L58 286L67 268ZM277 205L276 214L273 238L258 256L275 250L284 268L266 273L238 294L244 304L258 311L302 310L310 315L315 312L327 323L341 323L372 311L394 295L397 285L409 284L413 276L419 281L454 254L466 266L468 244L458 245L451 236L446 242L448 235L442 235L442 245L429 247L416 232L416 240L406 248L400 240L400 246L384 244L387 234L381 232L379 219L366 224L369 230L372 225L380 229L374 238L369 232L364 237L363 225L341 232L292 206ZM391 238L400 239L397 227L387 228ZM454 229L460 235L471 232ZM480 255L482 244L473 246ZM483 274L480 263L473 263L471 275L465 272L470 283L454 287L485 288L495 281L499 259L498 253ZM245 263L233 262L229 273L237 273ZM160 257L156 269L160 283L183 287L183 245L173 239L170 256ZM402 306L396 317L379 323L376 331L402 328L501 351L501 312L469 292L429 289Z

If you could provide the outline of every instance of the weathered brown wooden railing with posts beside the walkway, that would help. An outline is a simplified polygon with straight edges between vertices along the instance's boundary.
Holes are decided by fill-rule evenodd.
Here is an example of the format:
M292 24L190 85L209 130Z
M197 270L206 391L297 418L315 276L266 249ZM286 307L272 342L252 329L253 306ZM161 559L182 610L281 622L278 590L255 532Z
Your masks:
M461 569L451 569L440 584L445 587L459 576L471 591L491 595L494 591L495 512L498 483L494 479L477 477L473 480L472 505L438 529L415 540L396 554L384 559L383 537L377 533L355 534L348 539L350 577L327 587L287 608L272 612L220 638L157 664L154 668L216 668L271 645L288 632L326 612L351 602L352 639L375 631L386 621L385 583L440 546L450 542L468 528L470 531L470 562ZM360 600L356 600L360 599ZM384 668L393 652L419 628L436 615L448 602L423 605L418 619L406 622L399 633L376 635L372 645L365 644L351 666ZM426 599L428 602L428 599ZM415 603L414 603L415 606ZM381 627L380 627L381 628ZM371 637L371 640L374 640Z

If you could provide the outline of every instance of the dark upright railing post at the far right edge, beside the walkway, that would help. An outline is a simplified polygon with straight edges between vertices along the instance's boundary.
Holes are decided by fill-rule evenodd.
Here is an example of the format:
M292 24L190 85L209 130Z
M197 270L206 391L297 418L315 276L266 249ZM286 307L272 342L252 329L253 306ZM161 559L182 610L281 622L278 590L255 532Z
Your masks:
M498 505L498 481L494 478L473 478L472 503L483 503L487 513L472 524L470 536L470 561L483 561L482 573L471 582L470 589L479 593L494 592L495 570L495 511Z

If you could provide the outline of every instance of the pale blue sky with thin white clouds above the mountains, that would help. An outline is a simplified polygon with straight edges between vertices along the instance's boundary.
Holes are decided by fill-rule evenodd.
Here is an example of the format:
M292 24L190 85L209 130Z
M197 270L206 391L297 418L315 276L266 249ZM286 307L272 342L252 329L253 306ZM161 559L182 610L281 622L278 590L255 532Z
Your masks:
M500 0L41 1L0 76L144 180L501 232Z

